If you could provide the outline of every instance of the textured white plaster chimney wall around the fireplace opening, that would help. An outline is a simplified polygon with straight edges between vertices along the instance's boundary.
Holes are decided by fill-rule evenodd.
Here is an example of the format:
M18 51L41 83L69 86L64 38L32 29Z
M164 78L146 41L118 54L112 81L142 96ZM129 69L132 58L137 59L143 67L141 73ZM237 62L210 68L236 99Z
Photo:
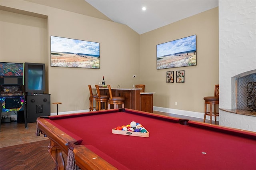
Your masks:
M219 0L219 57L220 108L232 109L232 77L256 69L256 1ZM220 125L255 126L255 119L243 126L240 116L221 114Z

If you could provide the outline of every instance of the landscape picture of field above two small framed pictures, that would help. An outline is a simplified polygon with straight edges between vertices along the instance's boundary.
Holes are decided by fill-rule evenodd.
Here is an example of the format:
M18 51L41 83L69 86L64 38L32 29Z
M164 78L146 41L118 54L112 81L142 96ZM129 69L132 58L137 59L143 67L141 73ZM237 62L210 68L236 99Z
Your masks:
M196 65L196 35L156 45L156 69Z

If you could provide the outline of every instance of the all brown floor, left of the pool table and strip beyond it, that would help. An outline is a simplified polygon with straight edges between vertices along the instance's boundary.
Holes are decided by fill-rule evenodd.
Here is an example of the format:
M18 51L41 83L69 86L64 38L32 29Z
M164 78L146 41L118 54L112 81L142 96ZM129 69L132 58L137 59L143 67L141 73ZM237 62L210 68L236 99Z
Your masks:
M154 111L156 114L203 122L203 119ZM210 123L206 120L206 123ZM218 125L218 122L217 122ZM0 169L1 170L53 170L55 164L48 153L48 137L36 136L36 123L1 123ZM66 159L66 155L64 158Z

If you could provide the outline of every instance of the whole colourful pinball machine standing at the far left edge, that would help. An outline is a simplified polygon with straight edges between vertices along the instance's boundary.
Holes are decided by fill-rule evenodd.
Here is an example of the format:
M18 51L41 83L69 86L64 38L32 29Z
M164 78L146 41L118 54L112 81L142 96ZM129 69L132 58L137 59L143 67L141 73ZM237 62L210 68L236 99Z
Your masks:
M26 122L23 86L23 63L0 62L0 122L11 122L8 113L15 112L18 122ZM24 117L24 119L23 119Z

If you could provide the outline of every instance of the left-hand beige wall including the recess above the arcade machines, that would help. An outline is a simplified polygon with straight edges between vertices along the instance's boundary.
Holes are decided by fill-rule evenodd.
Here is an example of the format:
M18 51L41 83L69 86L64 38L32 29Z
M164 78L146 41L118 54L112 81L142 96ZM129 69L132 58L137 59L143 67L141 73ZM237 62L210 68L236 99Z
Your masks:
M62 102L59 112L88 109L88 85L98 84L102 76L112 87L136 84L132 75L139 74L139 34L128 26L21 0L1 1L1 6L48 16L1 8L0 59L46 63L48 93L51 103ZM51 67L50 36L100 42L100 69ZM54 112L56 105L51 105Z

